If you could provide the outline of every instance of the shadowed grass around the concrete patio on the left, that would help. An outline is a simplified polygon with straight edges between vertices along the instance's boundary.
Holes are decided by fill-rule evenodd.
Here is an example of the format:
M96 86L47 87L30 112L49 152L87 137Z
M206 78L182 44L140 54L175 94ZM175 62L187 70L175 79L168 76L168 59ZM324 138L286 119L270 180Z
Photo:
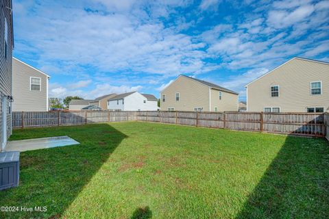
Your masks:
M0 206L45 206L45 212L0 212L0 218L60 218L127 136L109 124L21 129L13 138L67 135L80 145L21 153L20 185L0 191ZM17 137L19 136L19 137Z

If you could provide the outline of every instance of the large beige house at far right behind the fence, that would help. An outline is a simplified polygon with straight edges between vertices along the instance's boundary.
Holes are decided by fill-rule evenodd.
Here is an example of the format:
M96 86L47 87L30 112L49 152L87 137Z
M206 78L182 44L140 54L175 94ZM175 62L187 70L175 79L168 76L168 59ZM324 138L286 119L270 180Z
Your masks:
M294 57L246 88L248 112L326 112L329 64Z

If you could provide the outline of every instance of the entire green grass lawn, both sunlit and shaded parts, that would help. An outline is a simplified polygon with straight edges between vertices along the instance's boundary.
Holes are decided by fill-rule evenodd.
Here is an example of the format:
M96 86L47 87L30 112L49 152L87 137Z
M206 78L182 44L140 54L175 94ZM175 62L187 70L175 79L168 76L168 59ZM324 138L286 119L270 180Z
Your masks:
M329 144L320 138L156 123L14 130L11 140L81 142L21 153L0 218L329 218Z

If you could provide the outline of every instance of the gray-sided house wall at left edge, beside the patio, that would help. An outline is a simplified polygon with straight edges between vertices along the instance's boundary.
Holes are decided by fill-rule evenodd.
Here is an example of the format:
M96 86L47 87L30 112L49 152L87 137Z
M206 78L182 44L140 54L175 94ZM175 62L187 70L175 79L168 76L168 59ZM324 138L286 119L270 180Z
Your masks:
M0 2L0 149L5 148L12 133L12 1ZM0 151L1 151L0 150Z

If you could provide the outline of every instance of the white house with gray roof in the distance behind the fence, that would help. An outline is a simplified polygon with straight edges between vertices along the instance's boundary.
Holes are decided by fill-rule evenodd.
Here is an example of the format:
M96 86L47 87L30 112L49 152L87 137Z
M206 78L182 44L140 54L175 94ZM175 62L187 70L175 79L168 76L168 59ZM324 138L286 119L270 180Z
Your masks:
M152 94L129 92L108 99L108 110L118 111L156 111L158 99Z

